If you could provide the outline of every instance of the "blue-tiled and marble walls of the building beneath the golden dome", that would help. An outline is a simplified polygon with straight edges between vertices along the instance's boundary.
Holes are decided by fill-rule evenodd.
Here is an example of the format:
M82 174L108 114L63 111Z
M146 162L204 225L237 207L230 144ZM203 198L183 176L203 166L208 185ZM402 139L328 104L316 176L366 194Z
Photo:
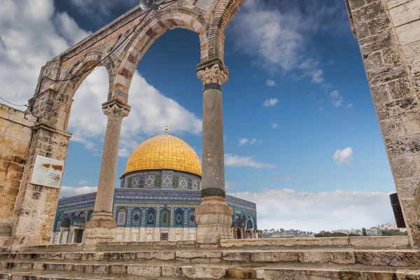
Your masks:
M128 176L131 176L133 182L137 176L146 178L156 176L159 172L162 171L134 172L135 174L126 175L122 181L129 181ZM172 178L179 177L192 182L191 188L194 182L200 186L199 176L172 172L176 174ZM78 235L83 235L85 221L89 221L92 216L95 198L96 193L90 193L59 200L50 240L52 244L77 243ZM239 218L246 219L251 223L252 230L257 230L255 203L230 195L226 197L226 202L234 210L234 221ZM113 200L113 217L117 223L116 241L153 241L162 238L177 241L195 240L195 207L200 204L200 188L117 188ZM248 228L249 230L251 229Z

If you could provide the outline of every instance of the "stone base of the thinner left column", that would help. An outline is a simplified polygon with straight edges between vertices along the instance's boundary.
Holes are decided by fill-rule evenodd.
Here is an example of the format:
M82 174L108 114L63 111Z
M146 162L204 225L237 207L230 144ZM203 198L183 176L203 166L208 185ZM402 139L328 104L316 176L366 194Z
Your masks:
M111 213L94 212L85 223L85 246L95 246L99 242L112 242L116 238L117 223Z

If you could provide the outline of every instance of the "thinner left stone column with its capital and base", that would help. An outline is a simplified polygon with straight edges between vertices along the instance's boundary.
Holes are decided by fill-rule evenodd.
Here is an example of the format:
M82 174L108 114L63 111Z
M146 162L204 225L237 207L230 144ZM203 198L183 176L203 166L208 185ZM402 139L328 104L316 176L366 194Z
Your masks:
M86 246L97 244L97 242L113 241L117 228L117 223L112 217L113 194L116 183L121 122L130 113L130 106L118 100L111 100L102 104L102 111L108 116L108 123L94 212L90 221L85 223Z

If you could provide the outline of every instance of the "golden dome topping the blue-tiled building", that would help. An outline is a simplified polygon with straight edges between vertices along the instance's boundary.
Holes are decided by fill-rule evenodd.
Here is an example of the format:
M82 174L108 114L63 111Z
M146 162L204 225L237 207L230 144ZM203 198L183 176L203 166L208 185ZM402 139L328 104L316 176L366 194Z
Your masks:
M163 134L147 139L130 155L125 173L147 169L173 169L202 175L197 153L182 139Z

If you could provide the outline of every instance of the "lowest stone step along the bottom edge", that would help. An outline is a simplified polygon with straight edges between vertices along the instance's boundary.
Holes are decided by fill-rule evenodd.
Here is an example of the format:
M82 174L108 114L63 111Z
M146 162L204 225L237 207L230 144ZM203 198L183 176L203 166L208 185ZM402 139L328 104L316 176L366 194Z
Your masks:
M111 272L110 272L111 273ZM115 273L115 272L114 272ZM6 280L114 280L114 279L264 279L264 280L418 280L420 269L384 267L221 267L190 265L185 267L133 267L120 274L10 268L0 269Z

